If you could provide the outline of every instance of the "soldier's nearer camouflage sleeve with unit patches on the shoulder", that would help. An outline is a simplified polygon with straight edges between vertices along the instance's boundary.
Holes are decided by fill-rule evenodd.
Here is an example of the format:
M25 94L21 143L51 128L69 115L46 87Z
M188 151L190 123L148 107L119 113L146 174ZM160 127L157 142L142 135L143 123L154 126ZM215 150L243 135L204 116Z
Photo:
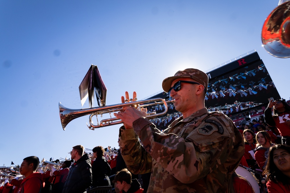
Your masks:
M229 157L228 148L233 148L232 125L219 119L202 122L197 128L183 127L182 137L162 133L145 118L133 122L133 128L152 158L182 183L192 183L209 174L218 161L225 162ZM238 153L238 161L242 153Z

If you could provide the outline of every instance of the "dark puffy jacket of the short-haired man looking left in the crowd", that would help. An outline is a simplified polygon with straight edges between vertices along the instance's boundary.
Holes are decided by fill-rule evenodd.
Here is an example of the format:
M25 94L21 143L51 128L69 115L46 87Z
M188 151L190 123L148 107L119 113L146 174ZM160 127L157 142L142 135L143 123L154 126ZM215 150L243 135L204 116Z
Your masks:
M88 154L84 154L68 172L62 193L82 193L92 183L92 166Z

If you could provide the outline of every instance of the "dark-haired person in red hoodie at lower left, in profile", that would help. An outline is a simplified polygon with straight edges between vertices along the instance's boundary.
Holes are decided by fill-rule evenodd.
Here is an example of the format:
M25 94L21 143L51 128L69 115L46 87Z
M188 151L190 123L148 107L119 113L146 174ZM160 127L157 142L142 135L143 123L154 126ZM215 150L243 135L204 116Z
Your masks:
M25 178L17 193L39 193L41 188L44 187L41 173L36 172L39 163L39 159L36 156L30 156L23 159L19 171Z

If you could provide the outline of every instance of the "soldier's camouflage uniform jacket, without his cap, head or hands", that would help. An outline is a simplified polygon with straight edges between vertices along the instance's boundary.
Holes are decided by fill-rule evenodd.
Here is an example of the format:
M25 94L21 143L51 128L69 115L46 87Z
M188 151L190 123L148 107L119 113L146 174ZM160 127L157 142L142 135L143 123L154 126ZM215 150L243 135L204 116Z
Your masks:
M134 174L151 171L148 192L226 192L244 155L244 142L222 113L201 109L163 133L142 117L121 127L120 148ZM141 139L144 148L138 140Z

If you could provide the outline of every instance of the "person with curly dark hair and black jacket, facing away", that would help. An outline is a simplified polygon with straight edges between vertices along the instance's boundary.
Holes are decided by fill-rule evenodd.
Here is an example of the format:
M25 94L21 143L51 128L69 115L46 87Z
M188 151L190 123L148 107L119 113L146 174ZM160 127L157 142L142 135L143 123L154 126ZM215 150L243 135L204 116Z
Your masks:
M111 182L108 177L111 172L110 165L104 157L104 148L97 146L93 148L93 156L96 158L93 162L93 187L110 186Z

